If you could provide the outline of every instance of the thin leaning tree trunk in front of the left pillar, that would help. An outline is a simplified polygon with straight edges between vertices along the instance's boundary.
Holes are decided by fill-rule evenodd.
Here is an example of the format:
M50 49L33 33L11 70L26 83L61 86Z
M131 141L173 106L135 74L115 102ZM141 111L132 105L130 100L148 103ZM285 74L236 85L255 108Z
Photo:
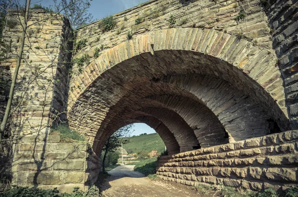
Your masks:
M21 38L20 51L18 53L18 60L17 60L16 66L15 66L15 71L13 73L13 77L12 77L12 80L11 80L11 86L10 86L10 90L9 90L9 96L8 96L8 101L7 101L4 117L3 117L2 123L0 125L0 141L2 139L2 134L5 131L6 124L7 124L7 121L8 121L10 108L11 108L11 103L12 103L12 98L13 98L14 87L15 87L15 83L16 83L16 78L17 78L18 71L19 71L19 68L20 68L20 65L21 65L21 61L22 61L22 55L23 55L23 51L24 51L24 43L25 43L25 38L26 38L27 21L28 21L28 15L29 15L29 7L30 7L30 0L27 0L26 1L25 19L24 19L24 25L23 25L23 32L22 32L22 38ZM21 22L21 21L19 21L19 22Z

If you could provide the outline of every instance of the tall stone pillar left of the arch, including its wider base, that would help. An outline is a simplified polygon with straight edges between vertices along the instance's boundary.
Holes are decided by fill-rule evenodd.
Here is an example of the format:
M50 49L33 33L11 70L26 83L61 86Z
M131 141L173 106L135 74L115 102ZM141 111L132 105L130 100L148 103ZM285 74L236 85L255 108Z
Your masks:
M1 66L5 66L11 76L15 71L22 35L20 22L15 18L23 21L23 13L9 10L2 38L9 53ZM53 123L65 121L64 100L68 95L71 50L72 29L68 19L43 9L30 9L9 119L11 138L26 135L12 144L13 185L45 188L55 185L62 189L64 184L84 186L86 144L76 147L82 152L80 154L74 150L75 144L61 145L59 136L49 135ZM0 108L0 114L2 111ZM66 158L75 160L68 163Z

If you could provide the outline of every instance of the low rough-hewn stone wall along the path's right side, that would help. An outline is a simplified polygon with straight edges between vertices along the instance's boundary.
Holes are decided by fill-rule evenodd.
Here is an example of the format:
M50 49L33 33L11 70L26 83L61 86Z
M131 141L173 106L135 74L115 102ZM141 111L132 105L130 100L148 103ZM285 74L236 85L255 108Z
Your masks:
M163 156L156 170L164 180L190 186L284 190L298 184L298 131Z

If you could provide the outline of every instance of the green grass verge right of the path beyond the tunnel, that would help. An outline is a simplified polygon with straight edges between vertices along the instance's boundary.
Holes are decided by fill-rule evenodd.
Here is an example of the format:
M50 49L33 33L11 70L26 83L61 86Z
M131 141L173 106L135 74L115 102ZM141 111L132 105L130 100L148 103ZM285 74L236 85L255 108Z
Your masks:
M152 175L156 173L156 162L157 158L142 159L140 162L130 163L127 165L136 165L134 167L135 171L141 172L145 176Z

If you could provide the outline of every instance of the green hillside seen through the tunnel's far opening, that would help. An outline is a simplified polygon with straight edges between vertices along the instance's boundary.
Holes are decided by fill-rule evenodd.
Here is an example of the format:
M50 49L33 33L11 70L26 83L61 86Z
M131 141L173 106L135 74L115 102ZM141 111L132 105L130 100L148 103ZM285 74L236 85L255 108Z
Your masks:
M157 133L129 137L129 142L123 144L123 148L129 153L137 153L140 150L164 151L164 143Z

